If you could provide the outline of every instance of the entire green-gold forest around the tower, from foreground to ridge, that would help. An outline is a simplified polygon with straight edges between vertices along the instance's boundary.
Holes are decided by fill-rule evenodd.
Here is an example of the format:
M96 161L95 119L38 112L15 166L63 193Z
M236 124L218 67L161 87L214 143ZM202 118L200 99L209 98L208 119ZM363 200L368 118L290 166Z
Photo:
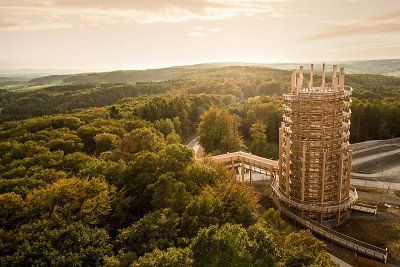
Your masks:
M1 90L0 266L335 266L185 146L275 158L289 78L240 66ZM352 142L399 136L400 79L346 78Z

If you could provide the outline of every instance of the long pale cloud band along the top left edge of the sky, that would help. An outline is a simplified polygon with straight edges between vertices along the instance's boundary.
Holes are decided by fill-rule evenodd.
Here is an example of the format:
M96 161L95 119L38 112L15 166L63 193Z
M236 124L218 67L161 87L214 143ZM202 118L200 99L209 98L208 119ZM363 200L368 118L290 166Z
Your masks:
M100 23L179 23L272 16L271 0L3 0L0 29L69 28Z

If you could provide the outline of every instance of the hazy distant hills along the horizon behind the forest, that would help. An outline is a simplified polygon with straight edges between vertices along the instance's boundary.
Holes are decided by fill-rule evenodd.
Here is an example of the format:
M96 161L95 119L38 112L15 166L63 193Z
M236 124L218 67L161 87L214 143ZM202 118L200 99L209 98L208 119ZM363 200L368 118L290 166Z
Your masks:
M322 63L315 63L315 69L321 71ZM346 73L353 74L381 74L388 76L400 76L400 59L383 59L369 61L338 61L326 62L328 65L337 64L344 66ZM71 74L71 70L40 72L40 70L29 70L25 75L23 70L17 72L2 72L0 71L0 88L7 90L30 90L40 88L46 85L58 84L76 84L76 83L125 83L134 84L136 82L148 81L167 81L176 79L198 78L207 75L215 75L221 69L227 67L266 67L281 70L290 70L299 65L309 65L310 63L276 63L276 64L261 64L261 63L243 63L243 62L228 62L228 63L207 63L187 66L177 66L160 69L147 70L117 70L108 72L87 72ZM78 71L75 71L78 72ZM8 73L8 75L7 75ZM51 74L47 75L45 73ZM27 78L27 77L30 77Z

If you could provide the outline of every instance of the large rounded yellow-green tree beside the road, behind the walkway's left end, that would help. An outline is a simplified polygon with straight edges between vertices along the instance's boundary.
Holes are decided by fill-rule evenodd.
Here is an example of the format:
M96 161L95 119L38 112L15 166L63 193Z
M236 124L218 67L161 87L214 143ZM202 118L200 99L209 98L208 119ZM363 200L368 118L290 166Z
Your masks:
M212 107L200 117L197 133L206 153L234 152L243 147L238 132L239 118L226 109Z

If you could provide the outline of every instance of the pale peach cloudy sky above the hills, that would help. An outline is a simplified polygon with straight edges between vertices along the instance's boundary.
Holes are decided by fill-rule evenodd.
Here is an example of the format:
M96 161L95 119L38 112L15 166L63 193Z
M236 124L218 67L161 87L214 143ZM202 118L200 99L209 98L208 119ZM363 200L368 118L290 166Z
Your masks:
M0 0L0 69L400 58L400 0Z

